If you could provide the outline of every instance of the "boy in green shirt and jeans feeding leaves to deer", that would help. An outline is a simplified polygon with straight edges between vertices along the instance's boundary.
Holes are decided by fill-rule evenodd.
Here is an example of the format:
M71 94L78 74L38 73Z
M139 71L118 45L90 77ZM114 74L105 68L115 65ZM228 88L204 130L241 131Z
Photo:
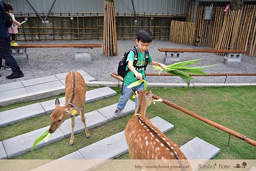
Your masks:
M146 58L148 58L148 64L150 65L158 65L160 67L165 67L164 64L161 64L159 62L155 62L153 61L150 52L148 51L148 56L146 56L146 50L148 50L150 43L152 42L153 39L153 35L152 32L149 31L148 29L142 29L140 30L140 32L137 35L137 38L135 39L136 43L137 43L137 52L138 52L138 59L137 59L137 63L136 66L144 66L145 65L145 60ZM128 63L127 67L126 67L126 71L127 74L125 75L124 78L124 84L122 87L122 96L120 97L118 104L117 104L117 108L113 113L113 117L117 117L119 116L119 113L125 108L125 104L127 103L127 101L129 100L131 94L133 93L132 90L130 88L127 88L127 86L137 80L146 80L146 76L145 76L145 70L144 67L142 67L141 69L137 69L133 66L133 62L134 62L134 52L131 50L128 54L126 63ZM144 90L144 83L140 84L137 87L133 87L133 89L140 91L140 90ZM138 103L138 99L135 99L135 109L137 108L137 103Z

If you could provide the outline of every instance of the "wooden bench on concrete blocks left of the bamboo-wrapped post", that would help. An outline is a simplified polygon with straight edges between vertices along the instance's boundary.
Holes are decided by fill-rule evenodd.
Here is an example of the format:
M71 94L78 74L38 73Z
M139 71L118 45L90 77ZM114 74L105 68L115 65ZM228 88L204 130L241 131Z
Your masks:
M91 61L90 49L102 47L101 44L19 44L11 46L11 54L18 64L27 64L29 56L27 48L75 48L75 62L85 63Z

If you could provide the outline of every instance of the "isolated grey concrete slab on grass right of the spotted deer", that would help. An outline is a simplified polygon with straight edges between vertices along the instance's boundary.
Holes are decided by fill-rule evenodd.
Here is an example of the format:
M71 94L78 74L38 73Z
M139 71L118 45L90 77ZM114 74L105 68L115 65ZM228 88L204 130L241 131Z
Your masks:
M187 159L211 159L221 151L198 137L182 145L180 150Z

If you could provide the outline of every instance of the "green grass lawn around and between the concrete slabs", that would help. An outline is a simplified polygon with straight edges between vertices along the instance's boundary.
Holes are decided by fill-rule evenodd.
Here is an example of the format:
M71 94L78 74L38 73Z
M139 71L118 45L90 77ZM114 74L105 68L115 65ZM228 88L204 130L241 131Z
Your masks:
M98 87L90 88L90 90L94 88ZM117 92L116 96L85 104L85 112L87 113L117 103L121 89L117 87L112 87L112 89ZM256 140L256 87L204 87L189 89L159 87L151 88L150 90L157 96L198 113L227 128L236 130L250 139ZM47 100L61 96L64 96L64 94L47 98ZM40 101L46 101L46 99ZM0 107L0 112L36 102L38 101ZM73 147L68 146L70 139L67 138L13 159L58 159L124 130L126 123L132 115L131 113L90 129L90 139L86 138L84 132L76 134ZM151 104L147 109L146 116L149 119L154 116L160 116L162 119L173 124L175 126L174 129L169 130L166 136L177 145L181 146L197 136L221 149L221 152L213 159L256 159L256 147L231 136L230 148L227 149L228 133L218 130L166 104ZM0 128L0 141L43 128L49 124L49 115L45 115L2 127ZM129 154L124 154L117 159L129 159Z

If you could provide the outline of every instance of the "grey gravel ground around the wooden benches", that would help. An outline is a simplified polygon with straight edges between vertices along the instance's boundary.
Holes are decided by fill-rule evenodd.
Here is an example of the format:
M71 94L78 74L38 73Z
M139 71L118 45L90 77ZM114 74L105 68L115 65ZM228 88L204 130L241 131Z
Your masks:
M82 40L82 41L31 41L17 42L20 44L27 43L100 43L103 40ZM110 76L111 72L116 72L118 62L122 54L131 49L135 45L134 40L118 40L118 56L105 57L102 48L94 48L91 50L92 62L88 64L75 64L73 48L29 48L29 64L20 66L24 73L23 78L7 80L5 76L12 73L11 70L0 70L0 84L6 84L15 81L28 80L49 75L54 75L71 70L84 70L97 81L116 81ZM188 46L184 44L176 44L170 41L156 41L150 45L150 52L154 61L163 63L164 52L159 52L158 48L201 48L209 49L209 47ZM207 73L256 73L256 58L242 56L242 61L239 67L229 68L223 64L223 57L214 53L183 53L182 61L203 58L196 66L218 64L215 67L205 68ZM3 60L4 61L4 60ZM4 62L3 62L4 63ZM148 66L146 72L156 72L152 66ZM192 83L224 83L225 76L218 77L195 77ZM148 82L164 82L164 83L184 83L179 77L148 77ZM229 76L227 83L256 83L256 76Z

